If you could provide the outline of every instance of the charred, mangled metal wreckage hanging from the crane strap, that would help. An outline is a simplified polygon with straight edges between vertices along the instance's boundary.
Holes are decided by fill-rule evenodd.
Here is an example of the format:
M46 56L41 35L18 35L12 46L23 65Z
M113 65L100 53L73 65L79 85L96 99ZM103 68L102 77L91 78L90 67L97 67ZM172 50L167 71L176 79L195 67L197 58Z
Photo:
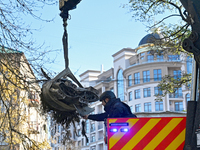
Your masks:
M59 73L54 79L48 80L42 86L43 101L58 111L78 111L81 116L93 111L88 103L97 101L98 91L93 87L78 87L67 77L70 77L76 84L78 80L67 68Z

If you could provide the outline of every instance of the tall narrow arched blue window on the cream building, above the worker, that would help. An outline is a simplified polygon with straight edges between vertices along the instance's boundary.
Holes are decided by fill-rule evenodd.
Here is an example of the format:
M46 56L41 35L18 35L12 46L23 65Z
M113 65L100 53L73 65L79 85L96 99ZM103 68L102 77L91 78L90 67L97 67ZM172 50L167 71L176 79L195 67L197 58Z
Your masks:
M123 71L120 69L117 74L117 97L124 101L124 78Z

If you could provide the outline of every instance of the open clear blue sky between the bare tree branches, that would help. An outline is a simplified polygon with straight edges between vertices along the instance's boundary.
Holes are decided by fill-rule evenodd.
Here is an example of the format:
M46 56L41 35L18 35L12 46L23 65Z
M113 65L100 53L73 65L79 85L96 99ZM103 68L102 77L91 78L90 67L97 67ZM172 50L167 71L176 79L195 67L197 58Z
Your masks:
M79 80L86 70L104 70L113 67L112 55L123 48L136 48L140 40L148 34L145 25L136 22L128 9L123 8L128 0L82 0L74 10L70 10L67 21L69 68ZM33 37L38 43L45 43L49 49L60 49L50 53L55 63L47 68L61 72L65 68L62 35L63 22L59 16L58 5L45 7L42 12L45 19L52 22L33 22L39 32Z

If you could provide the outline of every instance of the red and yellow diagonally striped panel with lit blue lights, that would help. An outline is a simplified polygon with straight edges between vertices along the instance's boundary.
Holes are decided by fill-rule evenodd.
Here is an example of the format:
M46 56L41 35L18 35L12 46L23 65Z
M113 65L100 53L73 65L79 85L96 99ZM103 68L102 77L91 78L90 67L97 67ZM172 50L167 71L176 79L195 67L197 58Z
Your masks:
M108 150L182 150L185 128L186 117L110 118Z

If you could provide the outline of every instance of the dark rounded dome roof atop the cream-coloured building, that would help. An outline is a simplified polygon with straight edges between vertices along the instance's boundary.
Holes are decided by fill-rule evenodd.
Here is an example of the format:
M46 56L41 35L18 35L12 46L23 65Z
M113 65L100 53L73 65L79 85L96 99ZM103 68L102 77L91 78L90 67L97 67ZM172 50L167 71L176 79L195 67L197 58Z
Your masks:
M147 34L146 36L144 36L138 46L143 45L143 44L147 44L147 43L154 43L156 40L160 40L163 39L164 36L160 33L151 33L151 34Z

